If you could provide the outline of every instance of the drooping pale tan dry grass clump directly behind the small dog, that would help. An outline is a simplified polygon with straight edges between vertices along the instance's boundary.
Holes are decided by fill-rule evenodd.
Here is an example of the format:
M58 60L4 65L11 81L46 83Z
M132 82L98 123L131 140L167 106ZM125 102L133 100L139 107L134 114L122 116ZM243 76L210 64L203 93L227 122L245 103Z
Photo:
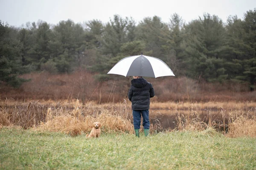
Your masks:
M46 122L41 122L35 130L47 130L55 132L64 132L71 136L88 133L93 127L93 122L101 122L102 131L133 133L133 125L128 119L124 119L118 113L110 113L108 110L102 110L96 114L89 115L84 113L77 100L74 109L70 113L52 113L49 108L47 111ZM58 115L58 116L53 116Z

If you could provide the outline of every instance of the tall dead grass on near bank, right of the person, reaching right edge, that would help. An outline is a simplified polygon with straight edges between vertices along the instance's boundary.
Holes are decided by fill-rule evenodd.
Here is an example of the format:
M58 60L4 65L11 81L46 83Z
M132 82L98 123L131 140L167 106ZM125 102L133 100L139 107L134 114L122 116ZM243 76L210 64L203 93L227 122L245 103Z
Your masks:
M220 115L222 119L217 119ZM177 114L177 130L179 131L205 131L215 129L222 131L225 136L256 138L256 111L232 110L229 113L220 109L217 115L188 111L187 115Z

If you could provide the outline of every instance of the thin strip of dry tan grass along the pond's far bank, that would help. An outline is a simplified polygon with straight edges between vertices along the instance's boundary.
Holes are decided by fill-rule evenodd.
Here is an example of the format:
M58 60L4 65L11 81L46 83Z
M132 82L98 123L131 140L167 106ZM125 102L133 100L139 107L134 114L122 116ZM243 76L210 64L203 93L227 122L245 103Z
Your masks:
M151 98L152 99L152 98ZM15 101L13 99L2 99L0 100L2 108L9 107L9 108L24 108L29 103L35 102L33 100L23 100L23 101ZM41 107L50 106L54 108L72 108L76 103L76 99L63 99L63 100L52 100L52 99L40 99L36 102L39 102ZM131 110L131 102L129 100L122 100L121 102L108 102L108 103L101 103L96 101L88 101L83 103L80 101L79 105L82 107L90 107L93 110L99 110L100 108L104 108L112 111L121 111L121 110ZM231 110L244 110L250 111L255 110L256 102L253 101L246 101L246 102L236 102L236 101L228 101L228 102L156 102L153 101L150 103L151 110L166 110L166 111L201 111L207 109L209 111L218 111L220 108L224 111L231 111Z

